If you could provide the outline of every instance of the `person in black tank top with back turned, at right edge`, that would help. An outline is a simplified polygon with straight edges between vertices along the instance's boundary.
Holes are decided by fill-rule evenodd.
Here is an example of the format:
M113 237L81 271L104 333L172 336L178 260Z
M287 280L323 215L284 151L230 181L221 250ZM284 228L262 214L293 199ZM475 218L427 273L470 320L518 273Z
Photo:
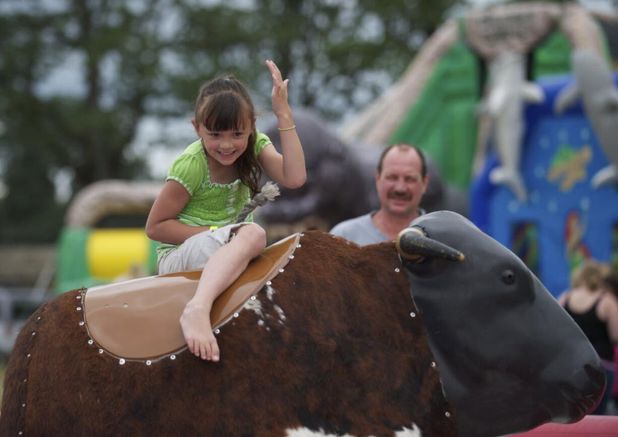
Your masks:
M591 414L606 414L607 402L614 384L614 345L618 343L618 299L607 287L609 266L587 260L574 269L571 289L558 297L558 302L595 348L607 375L603 399Z

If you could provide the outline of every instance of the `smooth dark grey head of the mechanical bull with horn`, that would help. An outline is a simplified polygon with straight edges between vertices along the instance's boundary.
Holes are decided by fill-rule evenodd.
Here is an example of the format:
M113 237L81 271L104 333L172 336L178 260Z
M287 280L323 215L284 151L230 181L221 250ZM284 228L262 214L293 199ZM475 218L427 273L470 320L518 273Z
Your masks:
M598 355L514 253L449 211L410 226L397 248L460 435L577 422L595 408Z

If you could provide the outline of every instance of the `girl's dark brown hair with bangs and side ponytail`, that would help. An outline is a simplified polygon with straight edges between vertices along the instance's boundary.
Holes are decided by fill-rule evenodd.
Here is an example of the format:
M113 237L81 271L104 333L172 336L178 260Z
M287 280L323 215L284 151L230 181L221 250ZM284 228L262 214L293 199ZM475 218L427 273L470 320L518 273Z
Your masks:
M253 124L255 108L247 87L234 76L218 77L200 87L195 101L195 121L206 129L240 130L249 122ZM249 135L247 148L234 161L240 182L247 185L254 197L260 192L262 168L255 155L257 131L255 126Z

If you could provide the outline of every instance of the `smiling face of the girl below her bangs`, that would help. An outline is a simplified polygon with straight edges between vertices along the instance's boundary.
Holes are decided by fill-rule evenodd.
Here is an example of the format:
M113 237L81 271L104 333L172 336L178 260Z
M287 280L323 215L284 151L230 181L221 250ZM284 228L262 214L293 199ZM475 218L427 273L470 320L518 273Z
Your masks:
M246 123L240 130L211 131L205 125L192 120L195 132L202 139L202 144L211 158L219 164L229 166L247 150L249 135L253 132L253 124Z

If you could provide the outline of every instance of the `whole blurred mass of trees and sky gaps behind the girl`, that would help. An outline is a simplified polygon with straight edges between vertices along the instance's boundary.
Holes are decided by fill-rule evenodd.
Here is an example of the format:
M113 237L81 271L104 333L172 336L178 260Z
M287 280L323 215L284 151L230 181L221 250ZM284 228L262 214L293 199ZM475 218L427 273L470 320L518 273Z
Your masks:
M463 0L4 0L0 241L53 239L74 192L147 177L127 147L146 115L185 114L199 85L242 78L268 111L273 59L292 105L337 119L396 78Z

